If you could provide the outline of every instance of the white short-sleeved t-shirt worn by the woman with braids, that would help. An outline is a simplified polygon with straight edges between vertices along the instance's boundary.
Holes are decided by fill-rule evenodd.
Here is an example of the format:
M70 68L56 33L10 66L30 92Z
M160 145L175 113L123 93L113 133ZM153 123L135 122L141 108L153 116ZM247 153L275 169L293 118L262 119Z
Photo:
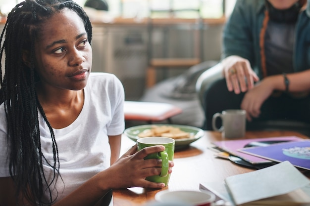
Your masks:
M69 126L53 129L59 153L60 175L55 188L57 201L67 196L89 178L110 165L107 135L121 134L124 122L124 88L112 74L91 73L84 88L84 105L80 115ZM39 114L42 151L53 163L50 130ZM51 166L44 163L47 177ZM9 176L6 143L6 119L0 105L0 177ZM53 198L57 192L53 190ZM48 198L48 197L47 197Z

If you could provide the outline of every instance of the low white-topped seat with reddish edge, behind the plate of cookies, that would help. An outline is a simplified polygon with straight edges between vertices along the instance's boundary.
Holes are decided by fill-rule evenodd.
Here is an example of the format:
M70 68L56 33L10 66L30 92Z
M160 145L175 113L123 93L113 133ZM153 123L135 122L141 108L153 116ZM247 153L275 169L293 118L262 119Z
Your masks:
M181 114L182 109L169 103L125 101L125 121L146 121L148 124L167 120Z

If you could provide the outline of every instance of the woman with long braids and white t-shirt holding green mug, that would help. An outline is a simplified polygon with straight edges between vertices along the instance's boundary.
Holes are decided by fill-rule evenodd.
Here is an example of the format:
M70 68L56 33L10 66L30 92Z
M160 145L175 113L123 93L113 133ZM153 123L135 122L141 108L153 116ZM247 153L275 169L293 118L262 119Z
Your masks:
M0 206L103 206L112 189L165 186L145 180L161 163L143 159L163 146L134 146L118 159L124 89L114 75L91 74L91 40L89 18L72 0L26 0L9 13Z

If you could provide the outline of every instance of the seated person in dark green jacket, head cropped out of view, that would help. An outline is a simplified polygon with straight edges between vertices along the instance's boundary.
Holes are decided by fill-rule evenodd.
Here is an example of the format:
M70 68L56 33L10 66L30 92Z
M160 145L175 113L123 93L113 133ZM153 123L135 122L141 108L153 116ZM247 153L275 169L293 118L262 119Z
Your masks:
M226 109L246 110L248 126L310 122L309 69L307 0L237 0L224 27L221 62L197 82L204 128L212 130L213 114Z

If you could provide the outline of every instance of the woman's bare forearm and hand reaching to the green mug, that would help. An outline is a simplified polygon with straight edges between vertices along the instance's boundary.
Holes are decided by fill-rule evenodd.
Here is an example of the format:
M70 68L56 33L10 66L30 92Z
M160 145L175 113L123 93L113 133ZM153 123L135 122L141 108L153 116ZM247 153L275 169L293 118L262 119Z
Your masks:
M144 160L144 158L149 154L164 151L164 149L164 146L157 145L137 151L137 145L133 146L113 165L94 175L71 194L53 204L53 206L94 206L111 189L129 187L163 188L164 183L145 180L148 176L161 173L161 160ZM168 173L172 172L173 166L174 163L170 161ZM13 179L11 177L0 177L0 205L16 206L15 193L16 187ZM21 198L22 195L19 197ZM22 201L25 205L33 206L26 199Z

